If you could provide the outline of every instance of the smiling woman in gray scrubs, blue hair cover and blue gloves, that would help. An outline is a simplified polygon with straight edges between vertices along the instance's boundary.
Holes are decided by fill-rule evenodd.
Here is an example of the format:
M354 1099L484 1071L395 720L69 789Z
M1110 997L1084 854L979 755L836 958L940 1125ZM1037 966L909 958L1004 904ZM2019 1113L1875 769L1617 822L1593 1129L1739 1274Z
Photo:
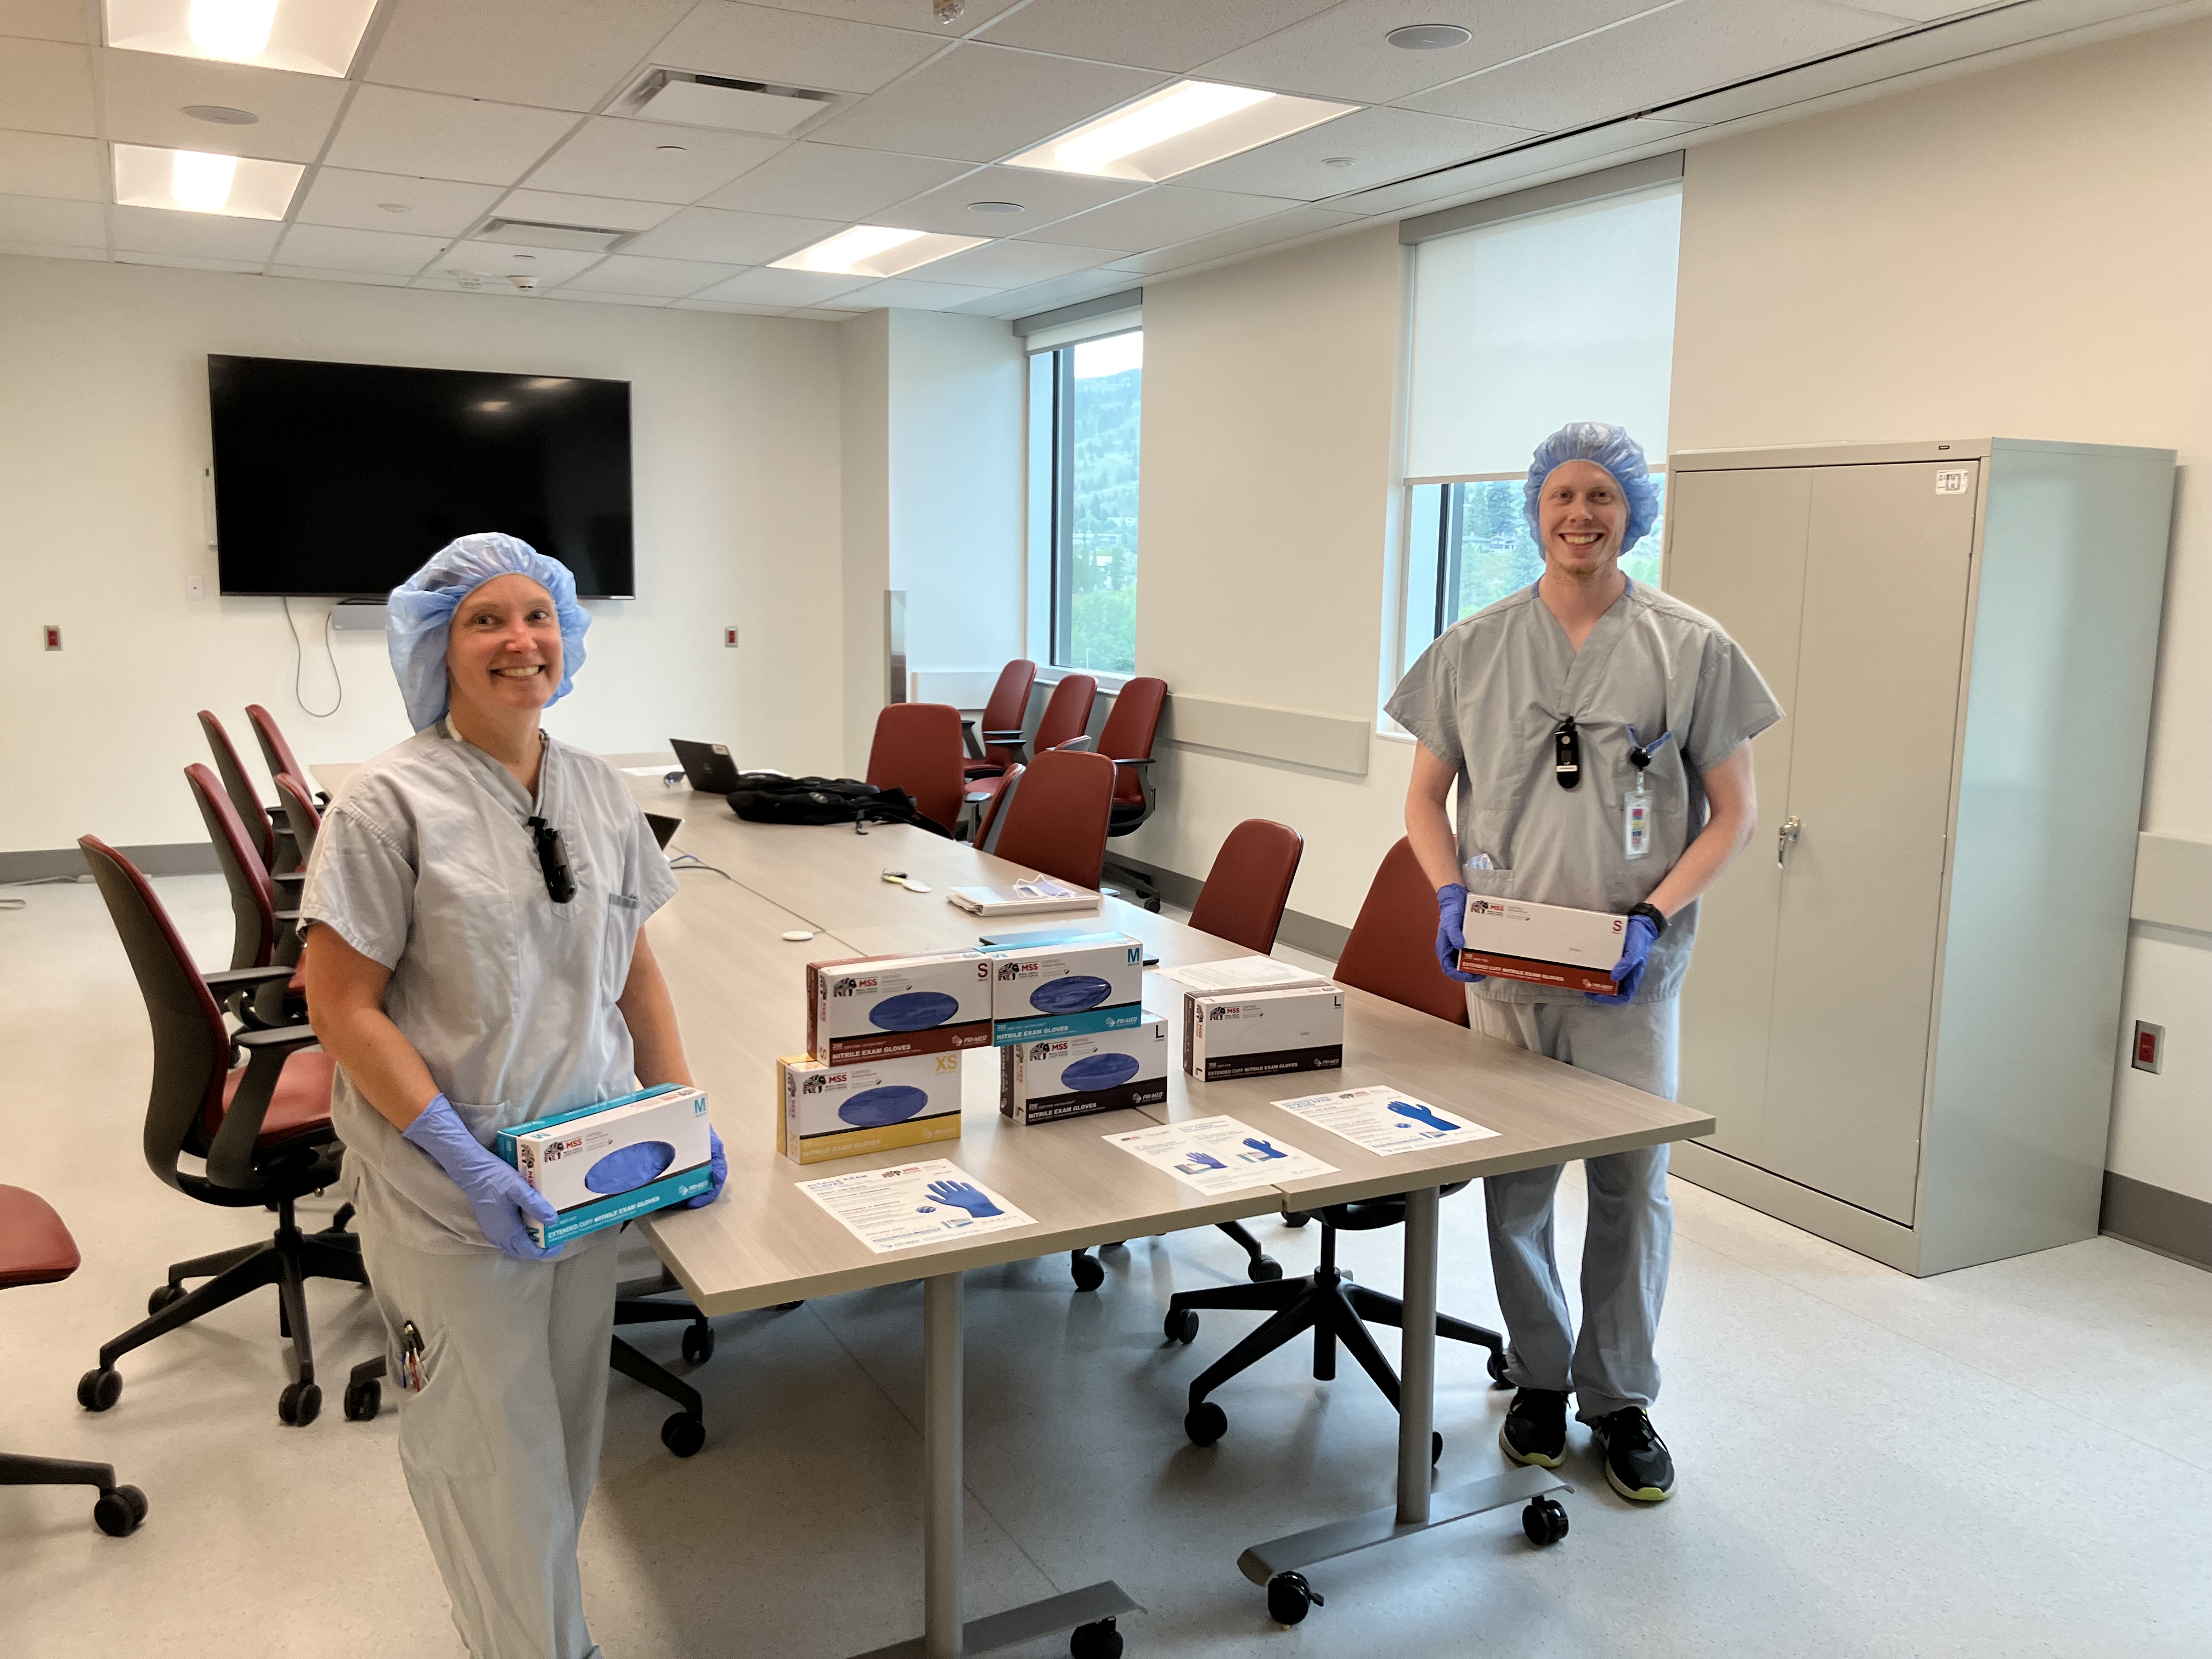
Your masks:
M500 1128L688 1084L641 933L675 894L606 761L540 730L584 661L568 571L465 535L392 593L416 734L330 803L307 1006L400 1391L400 1467L476 1659L591 1659L575 1542L599 1462L615 1230L553 1212ZM726 1164L714 1141L714 1188Z

